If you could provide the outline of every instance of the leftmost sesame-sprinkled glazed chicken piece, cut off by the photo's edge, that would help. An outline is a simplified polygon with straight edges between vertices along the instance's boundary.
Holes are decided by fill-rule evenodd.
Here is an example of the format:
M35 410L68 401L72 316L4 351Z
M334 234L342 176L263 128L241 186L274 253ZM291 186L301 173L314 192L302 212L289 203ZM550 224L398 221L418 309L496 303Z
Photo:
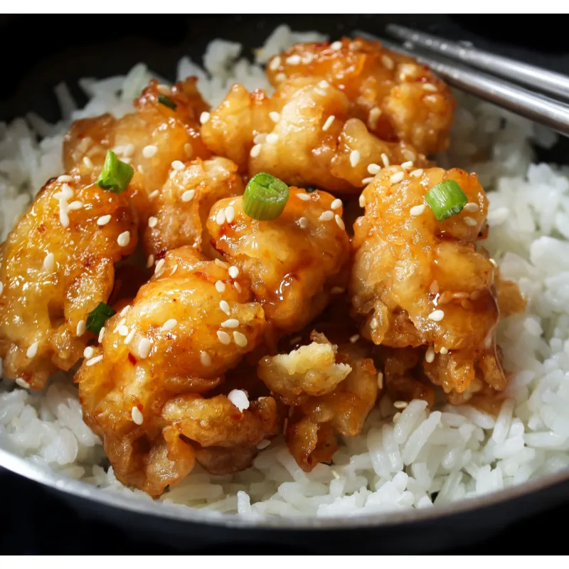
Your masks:
M74 173L72 173L74 174ZM137 243L137 217L117 195L80 176L48 181L1 245L0 356L4 373L41 389L92 338L89 313L110 297L114 263Z

